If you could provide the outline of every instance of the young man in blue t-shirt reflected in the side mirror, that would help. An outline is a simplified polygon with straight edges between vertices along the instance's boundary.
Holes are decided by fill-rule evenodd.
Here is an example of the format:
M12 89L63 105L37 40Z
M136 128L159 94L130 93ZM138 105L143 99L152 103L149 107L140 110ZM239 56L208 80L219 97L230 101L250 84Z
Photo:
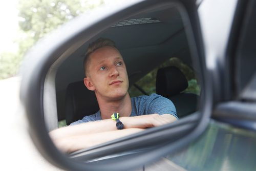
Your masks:
M156 94L130 98L125 63L112 40L100 38L90 44L83 65L84 84L95 92L100 110L50 132L62 151L70 153L177 120L175 106L167 98ZM113 113L119 118L111 119Z

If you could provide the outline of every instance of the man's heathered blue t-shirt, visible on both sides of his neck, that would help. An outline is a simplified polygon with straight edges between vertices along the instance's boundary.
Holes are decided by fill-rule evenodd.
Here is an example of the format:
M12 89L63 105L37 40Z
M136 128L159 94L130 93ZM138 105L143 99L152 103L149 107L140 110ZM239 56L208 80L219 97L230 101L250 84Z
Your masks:
M175 116L178 119L176 114L176 109L174 103L169 99L152 94L150 96L138 96L132 97L132 113L130 116L139 116L139 115L150 115L150 114L170 114ZM82 119L71 123L70 125L76 125L84 122L102 120L100 116L100 111L96 114L84 116Z

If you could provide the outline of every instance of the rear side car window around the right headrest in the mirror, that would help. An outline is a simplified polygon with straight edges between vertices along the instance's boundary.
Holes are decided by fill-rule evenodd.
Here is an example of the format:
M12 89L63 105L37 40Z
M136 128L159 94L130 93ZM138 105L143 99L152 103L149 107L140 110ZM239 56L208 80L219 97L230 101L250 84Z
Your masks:
M129 93L131 97L140 96L140 95L150 95L152 93L156 93L157 71L158 69L164 68L167 66L175 66L179 68L180 71L185 75L188 82L188 87L183 92L200 95L200 85L193 69L187 66L181 59L177 57L172 57L166 60L165 62L163 62L161 65L156 67L154 70L152 70L148 74L146 74L144 77L138 80L135 84L133 84L129 89Z

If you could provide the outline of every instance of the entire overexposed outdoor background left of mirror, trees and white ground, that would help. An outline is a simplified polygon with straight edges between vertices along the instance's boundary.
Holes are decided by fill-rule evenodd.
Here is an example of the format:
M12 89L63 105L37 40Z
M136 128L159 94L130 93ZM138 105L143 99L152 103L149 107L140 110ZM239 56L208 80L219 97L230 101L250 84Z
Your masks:
M72 18L125 0L10 0L0 1L0 145L8 170L61 170L36 150L19 100L19 67L37 40ZM3 157L2 157L3 158Z

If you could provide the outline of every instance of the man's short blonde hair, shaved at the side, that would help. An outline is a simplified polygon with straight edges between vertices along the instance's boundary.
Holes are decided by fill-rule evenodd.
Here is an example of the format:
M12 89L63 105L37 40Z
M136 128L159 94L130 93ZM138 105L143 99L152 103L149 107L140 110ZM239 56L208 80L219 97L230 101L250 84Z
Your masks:
M96 51L99 48L110 46L112 48L116 48L115 42L108 38L98 38L97 40L93 41L86 50L86 55L83 59L83 68L84 68L84 74L87 74L87 65L89 61L90 55Z

